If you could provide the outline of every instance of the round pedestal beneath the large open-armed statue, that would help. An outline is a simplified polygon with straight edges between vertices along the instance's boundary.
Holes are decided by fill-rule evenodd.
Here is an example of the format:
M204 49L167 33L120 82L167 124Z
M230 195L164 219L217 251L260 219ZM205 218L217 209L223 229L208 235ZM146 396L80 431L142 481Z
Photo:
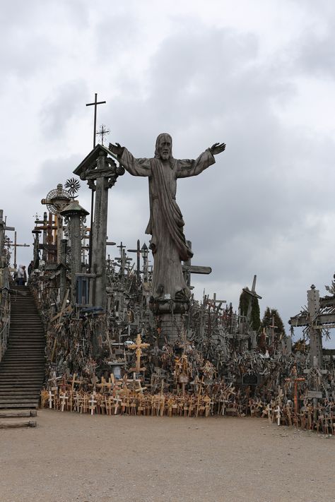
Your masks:
M158 345L175 345L182 341L184 314L189 310L189 301L157 299L151 304L157 327L160 329Z

